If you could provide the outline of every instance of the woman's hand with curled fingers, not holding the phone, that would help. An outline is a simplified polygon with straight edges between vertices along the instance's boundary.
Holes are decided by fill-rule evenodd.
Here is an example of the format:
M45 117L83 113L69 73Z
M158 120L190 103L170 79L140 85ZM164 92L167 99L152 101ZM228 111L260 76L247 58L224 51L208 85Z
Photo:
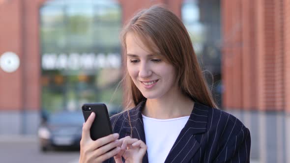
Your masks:
M146 153L147 146L142 140L126 136L121 138L121 151L114 157L116 163L122 163L122 157L125 163L142 163Z

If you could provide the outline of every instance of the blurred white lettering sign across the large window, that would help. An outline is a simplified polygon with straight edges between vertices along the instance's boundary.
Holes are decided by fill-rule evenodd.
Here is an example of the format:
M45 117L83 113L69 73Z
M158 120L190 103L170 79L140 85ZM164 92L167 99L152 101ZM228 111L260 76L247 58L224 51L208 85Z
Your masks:
M120 54L43 54L43 70L93 70L98 68L120 68Z

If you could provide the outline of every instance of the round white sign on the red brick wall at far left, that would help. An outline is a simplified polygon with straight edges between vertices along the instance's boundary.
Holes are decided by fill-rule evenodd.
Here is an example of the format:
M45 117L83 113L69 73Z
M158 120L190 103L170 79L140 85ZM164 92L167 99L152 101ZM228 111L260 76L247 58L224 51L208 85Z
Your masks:
M0 56L0 67L7 73L12 73L18 69L20 59L17 54L13 52L5 52Z

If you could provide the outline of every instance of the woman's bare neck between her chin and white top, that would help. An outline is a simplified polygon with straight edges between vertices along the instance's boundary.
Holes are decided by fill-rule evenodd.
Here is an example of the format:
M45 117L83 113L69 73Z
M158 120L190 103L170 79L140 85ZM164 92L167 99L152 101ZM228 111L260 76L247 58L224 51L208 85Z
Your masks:
M143 114L156 119L170 119L189 116L194 102L183 94L171 95L160 99L147 99Z

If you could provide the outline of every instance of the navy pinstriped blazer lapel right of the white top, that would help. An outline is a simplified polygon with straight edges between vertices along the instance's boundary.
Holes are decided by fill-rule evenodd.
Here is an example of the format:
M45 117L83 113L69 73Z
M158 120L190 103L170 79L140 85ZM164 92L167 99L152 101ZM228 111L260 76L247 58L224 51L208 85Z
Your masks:
M207 114L208 110L202 104L195 102L194 109L174 142L165 163L188 163L191 160L200 148L195 135L206 132Z

